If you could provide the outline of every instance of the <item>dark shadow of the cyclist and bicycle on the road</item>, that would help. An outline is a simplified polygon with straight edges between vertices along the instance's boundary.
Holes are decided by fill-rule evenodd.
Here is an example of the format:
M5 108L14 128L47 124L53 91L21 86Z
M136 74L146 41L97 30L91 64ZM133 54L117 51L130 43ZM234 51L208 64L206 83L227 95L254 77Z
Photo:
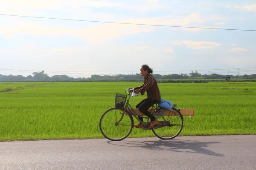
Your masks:
M218 144L221 142L197 142L188 140L172 141L160 140L160 141L108 141L108 144L125 146L125 147L143 147L150 150L169 150L172 152L185 152L185 153L201 153L210 156L224 156L220 153L215 153L212 150L208 150L208 144Z

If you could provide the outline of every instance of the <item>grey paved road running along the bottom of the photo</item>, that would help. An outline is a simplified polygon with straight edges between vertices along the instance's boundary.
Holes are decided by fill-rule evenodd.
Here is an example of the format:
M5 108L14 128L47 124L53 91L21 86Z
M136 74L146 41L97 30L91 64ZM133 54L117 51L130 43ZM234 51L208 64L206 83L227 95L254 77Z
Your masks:
M256 135L0 142L1 170L256 170Z

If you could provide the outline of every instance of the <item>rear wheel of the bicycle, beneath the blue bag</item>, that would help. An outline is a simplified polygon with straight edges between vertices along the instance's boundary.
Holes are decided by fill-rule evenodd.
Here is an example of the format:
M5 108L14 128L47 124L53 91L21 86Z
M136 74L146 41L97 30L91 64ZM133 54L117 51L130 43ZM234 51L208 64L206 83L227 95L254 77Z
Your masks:
M158 119L159 124L153 126L152 131L160 139L174 139L182 130L183 116L175 108L172 108L171 112L167 112L169 116L162 116L165 111L166 109L162 108L153 114Z

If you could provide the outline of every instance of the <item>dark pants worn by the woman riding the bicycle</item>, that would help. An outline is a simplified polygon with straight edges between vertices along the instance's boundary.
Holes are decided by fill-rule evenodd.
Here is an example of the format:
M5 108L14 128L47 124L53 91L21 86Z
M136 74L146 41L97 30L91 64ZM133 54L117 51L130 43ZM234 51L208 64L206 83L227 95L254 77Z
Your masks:
M137 106L136 108L139 109L139 111L141 111L142 113L144 113L146 116L148 116L152 121L155 118L155 116L151 115L151 113L149 113L148 109L154 105L155 103L157 103L158 101L156 100L152 100L152 99L143 99ZM139 116L139 119L143 122L143 118Z

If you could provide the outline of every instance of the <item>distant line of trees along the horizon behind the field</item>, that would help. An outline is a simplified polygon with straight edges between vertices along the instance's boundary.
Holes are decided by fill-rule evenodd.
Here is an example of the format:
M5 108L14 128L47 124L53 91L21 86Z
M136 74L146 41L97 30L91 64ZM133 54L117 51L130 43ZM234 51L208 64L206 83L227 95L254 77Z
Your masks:
M73 78L67 75L54 75L49 77L44 71L33 72L33 76L29 75L27 77L23 77L22 75L8 75L4 76L0 74L0 82L25 82L25 81L115 81L115 80L143 80L143 77L140 74L119 74L119 75L91 75L89 78L79 77ZM165 79L256 79L256 74L244 74L244 75L221 75L221 74L200 74L197 71L191 72L189 74L168 74L168 75L160 75L153 74L155 79L165 80Z

